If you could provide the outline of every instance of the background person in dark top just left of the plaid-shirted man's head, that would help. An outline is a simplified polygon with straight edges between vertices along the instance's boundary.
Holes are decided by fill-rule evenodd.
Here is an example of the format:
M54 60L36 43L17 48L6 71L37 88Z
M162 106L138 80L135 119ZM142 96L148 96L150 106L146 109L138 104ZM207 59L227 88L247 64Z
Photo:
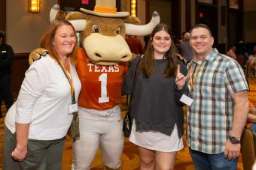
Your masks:
M183 42L181 43L181 55L190 62L194 57L194 49L190 46L190 33L186 32L183 35Z

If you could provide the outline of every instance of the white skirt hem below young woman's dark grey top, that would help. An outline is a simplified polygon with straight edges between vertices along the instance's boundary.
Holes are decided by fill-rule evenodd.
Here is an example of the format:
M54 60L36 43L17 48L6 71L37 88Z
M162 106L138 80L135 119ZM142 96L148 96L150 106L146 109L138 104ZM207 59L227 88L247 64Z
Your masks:
M183 148L182 138L178 138L178 130L175 124L171 136L157 132L140 130L136 132L136 124L133 120L130 142L142 148L160 152L175 152Z

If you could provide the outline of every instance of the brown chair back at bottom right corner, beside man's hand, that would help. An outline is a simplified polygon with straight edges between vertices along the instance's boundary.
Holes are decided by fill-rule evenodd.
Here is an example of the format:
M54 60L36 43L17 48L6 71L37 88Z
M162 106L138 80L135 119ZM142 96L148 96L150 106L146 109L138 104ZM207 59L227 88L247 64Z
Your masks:
M251 170L256 160L256 134L245 127L241 136L241 154L244 170Z

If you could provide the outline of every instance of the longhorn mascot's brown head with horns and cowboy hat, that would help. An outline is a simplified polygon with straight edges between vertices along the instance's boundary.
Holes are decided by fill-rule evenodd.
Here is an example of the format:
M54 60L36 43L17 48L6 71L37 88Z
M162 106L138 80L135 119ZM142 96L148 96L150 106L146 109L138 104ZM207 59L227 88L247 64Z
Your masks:
M55 18L57 10L57 6L52 7L50 19ZM80 10L69 13L66 19L76 31L82 31L83 48L94 64L112 65L119 61L130 61L132 52L125 35L151 34L154 26L160 22L159 14L154 12L147 25L132 24L134 16L129 16L128 12L117 12L115 0L96 0L94 10Z

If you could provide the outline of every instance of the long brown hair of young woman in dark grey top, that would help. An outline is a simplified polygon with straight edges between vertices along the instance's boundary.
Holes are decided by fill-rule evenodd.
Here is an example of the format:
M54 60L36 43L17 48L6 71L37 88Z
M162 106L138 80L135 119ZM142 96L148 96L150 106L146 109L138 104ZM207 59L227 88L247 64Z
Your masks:
M154 34L156 34L158 31L166 31L170 36L172 35L169 26L165 24L158 24L153 29L150 40L145 49L145 55L142 58L142 61L139 63L139 70L142 70L142 72L145 74L145 77L147 78L150 77L151 74L154 73L154 71L156 70L156 61L154 60L154 48L151 43ZM176 53L177 49L175 47L175 44L172 42L170 49L163 55L163 58L166 58L166 60L168 61L166 69L163 72L163 76L175 76L175 71L177 67Z

